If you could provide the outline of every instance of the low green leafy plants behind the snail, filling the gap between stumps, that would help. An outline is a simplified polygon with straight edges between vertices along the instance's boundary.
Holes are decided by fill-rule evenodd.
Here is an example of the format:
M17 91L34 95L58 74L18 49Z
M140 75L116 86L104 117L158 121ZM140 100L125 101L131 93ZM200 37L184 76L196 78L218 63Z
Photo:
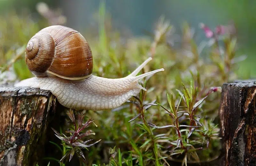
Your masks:
M4 20L0 25L1 82L4 82L2 76L4 72L9 72L8 69L17 75L17 79L32 77L25 67L24 56L20 56L17 50L23 48L39 29L48 26L44 20L20 17L11 12L8 21L3 16L0 18ZM244 59L244 56L236 55L239 43L236 34L228 30L233 25L217 26L216 31L206 25L201 26L207 41L196 43L196 33L188 23L182 25L181 34L178 34L161 17L151 38L124 38L121 32L111 29L104 4L100 5L97 18L99 30L92 27L90 31L81 32L88 34L85 36L95 55L95 75L124 77L148 56L154 57L154 60L145 66L142 73L159 67L164 67L165 71L146 78L141 86L147 91L142 90L138 96L131 96L121 107L97 112L86 110L83 113L78 110L75 114L69 111L67 119L72 123L54 126L55 129L60 128L60 133L53 129L63 145L61 148L52 142L63 155L59 164L77 165L77 160L71 160L75 154L81 159L79 164L95 166L174 165L173 162L189 165L216 160L221 149L218 125L220 86L237 78L237 64ZM7 31L5 26L11 30ZM223 33L222 28L227 28L227 33ZM98 33L99 36L94 36ZM175 41L177 35L180 41ZM87 121L82 123L84 119ZM98 126L90 125L92 123ZM62 131L67 131L68 135ZM96 144L98 146L86 142L92 139L102 141ZM87 148L90 151L84 150ZM50 157L56 160L56 156ZM45 159L47 162L50 160Z

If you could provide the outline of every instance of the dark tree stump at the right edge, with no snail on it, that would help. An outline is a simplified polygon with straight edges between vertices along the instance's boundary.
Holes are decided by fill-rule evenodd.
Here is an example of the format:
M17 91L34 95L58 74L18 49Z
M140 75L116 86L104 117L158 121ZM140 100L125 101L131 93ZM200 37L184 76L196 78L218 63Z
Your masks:
M223 165L256 165L256 80L222 86L219 109Z

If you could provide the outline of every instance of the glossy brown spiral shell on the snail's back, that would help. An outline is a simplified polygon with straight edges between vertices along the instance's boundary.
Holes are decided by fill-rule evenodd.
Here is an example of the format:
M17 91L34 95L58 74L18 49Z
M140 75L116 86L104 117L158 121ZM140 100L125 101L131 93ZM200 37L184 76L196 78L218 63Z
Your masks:
M26 64L37 77L84 79L92 74L92 51L78 31L49 26L28 41Z

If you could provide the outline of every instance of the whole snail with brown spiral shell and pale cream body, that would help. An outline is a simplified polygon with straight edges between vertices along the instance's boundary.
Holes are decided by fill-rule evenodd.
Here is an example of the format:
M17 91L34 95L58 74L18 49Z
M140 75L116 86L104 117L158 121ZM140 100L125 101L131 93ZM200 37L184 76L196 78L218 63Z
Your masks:
M136 76L152 59L149 57L124 78L108 79L92 75L92 51L76 30L48 26L37 32L26 47L26 64L36 76L16 87L50 90L59 103L72 109L105 110L121 106L144 87L139 80L164 71L157 69Z

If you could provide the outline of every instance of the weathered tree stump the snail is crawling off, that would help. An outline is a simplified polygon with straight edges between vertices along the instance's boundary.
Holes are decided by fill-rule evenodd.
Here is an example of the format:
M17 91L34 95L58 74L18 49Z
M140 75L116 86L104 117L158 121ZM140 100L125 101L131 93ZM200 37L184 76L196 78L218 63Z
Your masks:
M55 109L50 91L0 87L0 165L36 165Z

